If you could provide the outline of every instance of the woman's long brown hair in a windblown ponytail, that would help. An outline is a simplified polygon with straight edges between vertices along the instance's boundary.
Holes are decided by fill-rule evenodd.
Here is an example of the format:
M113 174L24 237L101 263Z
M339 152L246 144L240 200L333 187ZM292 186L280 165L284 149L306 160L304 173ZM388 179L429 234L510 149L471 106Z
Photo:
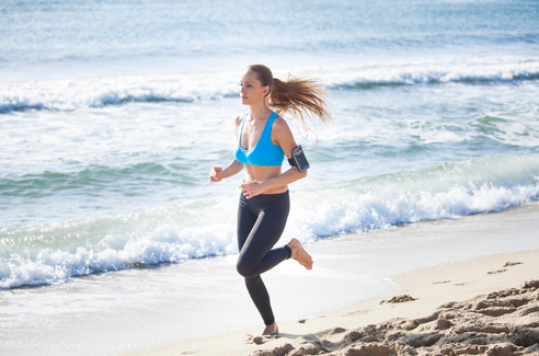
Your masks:
M314 117L322 123L332 120L324 99L326 91L316 80L288 74L283 81L273 78L272 71L264 65L252 65L248 67L248 70L256 73L262 87L270 85L266 104L275 108L277 114L284 115L286 112L291 112L291 115L298 117L303 126L307 126L305 116L313 123L317 122Z

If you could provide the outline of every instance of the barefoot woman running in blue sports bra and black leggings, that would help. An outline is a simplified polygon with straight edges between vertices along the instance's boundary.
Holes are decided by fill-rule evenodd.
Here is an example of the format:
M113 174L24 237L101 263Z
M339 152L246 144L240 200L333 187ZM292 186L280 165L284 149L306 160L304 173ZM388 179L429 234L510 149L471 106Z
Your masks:
M241 103L249 105L249 115L236 118L236 158L225 169L211 169L209 181L219 182L245 170L238 209L237 268L245 278L249 294L266 325L262 334L277 334L270 296L260 275L290 257L307 269L312 268L312 259L298 240L273 249L288 217L288 184L307 175L307 171L300 172L296 166L282 172L284 157L291 158L296 142L278 114L290 111L303 125L303 114L316 115L322 122L330 120L331 115L320 85L309 79L280 81L273 78L267 67L253 65L240 85Z

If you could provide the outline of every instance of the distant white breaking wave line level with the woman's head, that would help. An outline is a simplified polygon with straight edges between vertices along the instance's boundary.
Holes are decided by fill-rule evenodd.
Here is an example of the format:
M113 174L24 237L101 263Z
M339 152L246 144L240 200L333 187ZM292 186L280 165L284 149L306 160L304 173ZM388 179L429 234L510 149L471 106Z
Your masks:
M485 84L537 80L539 58L437 58L347 64L301 68L298 71L322 79L332 90L440 83ZM218 100L238 95L237 76L231 72L185 73L1 83L0 113Z

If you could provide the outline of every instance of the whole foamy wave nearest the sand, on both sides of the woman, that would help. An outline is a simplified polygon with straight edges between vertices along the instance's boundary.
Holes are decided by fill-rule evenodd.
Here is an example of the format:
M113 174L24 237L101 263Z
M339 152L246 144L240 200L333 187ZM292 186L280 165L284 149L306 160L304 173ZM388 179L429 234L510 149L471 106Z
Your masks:
M498 154L295 192L283 239L501 211L539 199L539 153ZM236 200L0 229L0 289L237 253Z

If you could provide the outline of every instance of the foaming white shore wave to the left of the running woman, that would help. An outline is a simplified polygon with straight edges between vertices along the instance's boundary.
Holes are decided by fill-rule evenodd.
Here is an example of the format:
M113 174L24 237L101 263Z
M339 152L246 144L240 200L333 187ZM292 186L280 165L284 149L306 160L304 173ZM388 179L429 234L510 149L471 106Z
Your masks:
M219 208L213 204L211 208ZM234 252L233 219L206 226L207 204L0 229L0 289ZM204 220L204 221L203 221Z

